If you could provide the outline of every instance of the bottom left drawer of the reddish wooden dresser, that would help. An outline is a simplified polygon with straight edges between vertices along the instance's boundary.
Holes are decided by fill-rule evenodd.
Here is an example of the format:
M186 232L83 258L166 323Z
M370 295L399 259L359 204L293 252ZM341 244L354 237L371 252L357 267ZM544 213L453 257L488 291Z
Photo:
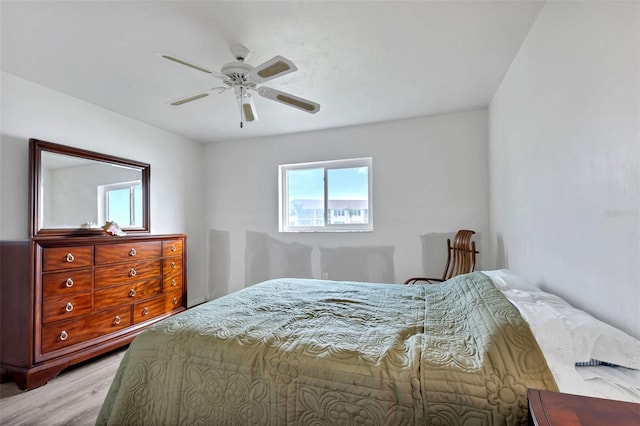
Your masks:
M122 330L131 325L131 307L96 312L74 320L60 321L42 327L42 353Z

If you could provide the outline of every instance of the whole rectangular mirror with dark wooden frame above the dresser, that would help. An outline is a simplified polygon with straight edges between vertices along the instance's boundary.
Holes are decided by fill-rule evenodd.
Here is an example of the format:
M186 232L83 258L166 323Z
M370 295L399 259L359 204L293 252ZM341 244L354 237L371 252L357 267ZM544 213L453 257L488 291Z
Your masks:
M31 235L102 234L106 222L149 232L146 163L29 140Z

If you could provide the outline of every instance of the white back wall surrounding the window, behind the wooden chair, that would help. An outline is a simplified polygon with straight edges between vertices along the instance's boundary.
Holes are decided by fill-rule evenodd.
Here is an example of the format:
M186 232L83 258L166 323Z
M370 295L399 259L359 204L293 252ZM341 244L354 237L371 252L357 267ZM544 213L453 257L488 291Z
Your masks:
M279 164L368 156L373 232L278 232ZM438 277L446 236L459 228L478 231L486 255L486 109L208 145L205 157L214 297L261 279L322 272L336 280Z

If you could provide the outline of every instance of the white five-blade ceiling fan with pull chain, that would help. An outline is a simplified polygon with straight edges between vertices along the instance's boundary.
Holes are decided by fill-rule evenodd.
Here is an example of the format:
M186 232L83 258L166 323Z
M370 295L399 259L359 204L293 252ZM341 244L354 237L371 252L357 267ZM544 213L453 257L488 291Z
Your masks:
M224 84L224 86L213 87L190 96L176 99L170 102L170 104L173 106L179 106L186 104L187 102L205 98L209 96L210 93L223 93L227 90L233 89L240 107L240 127L243 127L243 123L246 121L250 122L258 119L258 114L256 113L256 108L253 103L253 97L249 93L250 91L258 92L258 94L264 98L283 103L310 114L315 114L320 111L320 104L317 104L316 102L281 92L280 90L272 89L270 87L258 87L259 84L264 83L265 81L296 71L298 68L289 59L282 56L276 56L257 67L253 67L244 62L249 56L249 49L246 47L233 46L231 48L231 53L236 58L236 62L230 62L223 65L220 72L208 70L172 55L164 53L160 54L165 59L210 74L211 76L222 80L222 83Z

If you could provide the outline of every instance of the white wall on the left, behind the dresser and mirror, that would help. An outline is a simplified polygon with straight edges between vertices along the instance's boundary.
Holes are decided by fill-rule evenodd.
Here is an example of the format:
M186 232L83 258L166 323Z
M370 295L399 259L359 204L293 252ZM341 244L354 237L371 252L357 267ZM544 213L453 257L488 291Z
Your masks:
M189 304L204 301L201 144L2 73L0 239L28 238L29 138L151 165L151 231L187 233Z

